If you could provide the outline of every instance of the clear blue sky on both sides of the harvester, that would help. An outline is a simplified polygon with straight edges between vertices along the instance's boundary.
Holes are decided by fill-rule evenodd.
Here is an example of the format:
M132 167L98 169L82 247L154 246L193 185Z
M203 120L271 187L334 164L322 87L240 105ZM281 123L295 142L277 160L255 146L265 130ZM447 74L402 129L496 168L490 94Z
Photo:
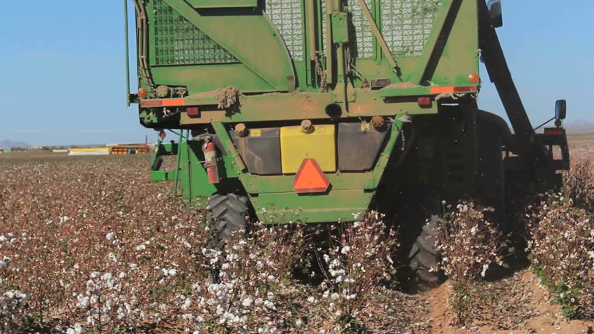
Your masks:
M123 1L4 2L0 139L33 145L154 139L139 125L135 106L125 106ZM594 122L593 13L588 0L503 0L498 33L534 124L553 115L558 98L568 100L568 120ZM503 115L484 71L482 77L480 106Z

